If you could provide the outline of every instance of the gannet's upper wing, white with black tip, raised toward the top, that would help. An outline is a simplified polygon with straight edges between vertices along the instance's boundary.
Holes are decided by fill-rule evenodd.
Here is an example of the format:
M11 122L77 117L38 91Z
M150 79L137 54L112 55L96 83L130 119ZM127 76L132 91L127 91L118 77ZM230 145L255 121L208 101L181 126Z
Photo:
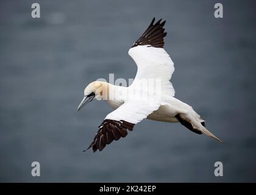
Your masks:
M141 79L160 79L162 93L166 96L174 96L175 91L169 81L174 72L174 63L163 49L166 32L163 29L165 21L161 23L161 20L154 24L154 18L143 35L133 43L128 53L138 67L134 83Z

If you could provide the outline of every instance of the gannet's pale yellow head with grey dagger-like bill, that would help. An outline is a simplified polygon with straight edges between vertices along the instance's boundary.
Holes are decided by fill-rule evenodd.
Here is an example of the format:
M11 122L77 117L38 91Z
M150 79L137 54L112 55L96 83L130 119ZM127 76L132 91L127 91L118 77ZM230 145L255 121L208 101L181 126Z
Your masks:
M84 98L77 108L77 112L94 99L102 99L107 93L108 83L101 81L91 82L84 90ZM106 92L106 93L105 93Z

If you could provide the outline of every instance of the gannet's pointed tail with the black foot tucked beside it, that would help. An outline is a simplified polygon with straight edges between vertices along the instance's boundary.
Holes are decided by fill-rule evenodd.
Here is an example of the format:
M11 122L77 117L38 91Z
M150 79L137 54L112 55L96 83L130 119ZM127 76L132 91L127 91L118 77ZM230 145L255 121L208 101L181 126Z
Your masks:
M208 137L215 138L215 140L218 140L219 142L223 143L223 141L221 141L219 138L213 135L213 133L211 133L209 130L205 128L205 122L200 118L199 115L180 113L176 115L176 118L179 120L180 124L187 127L192 132L197 134L205 133L206 135L208 135Z

